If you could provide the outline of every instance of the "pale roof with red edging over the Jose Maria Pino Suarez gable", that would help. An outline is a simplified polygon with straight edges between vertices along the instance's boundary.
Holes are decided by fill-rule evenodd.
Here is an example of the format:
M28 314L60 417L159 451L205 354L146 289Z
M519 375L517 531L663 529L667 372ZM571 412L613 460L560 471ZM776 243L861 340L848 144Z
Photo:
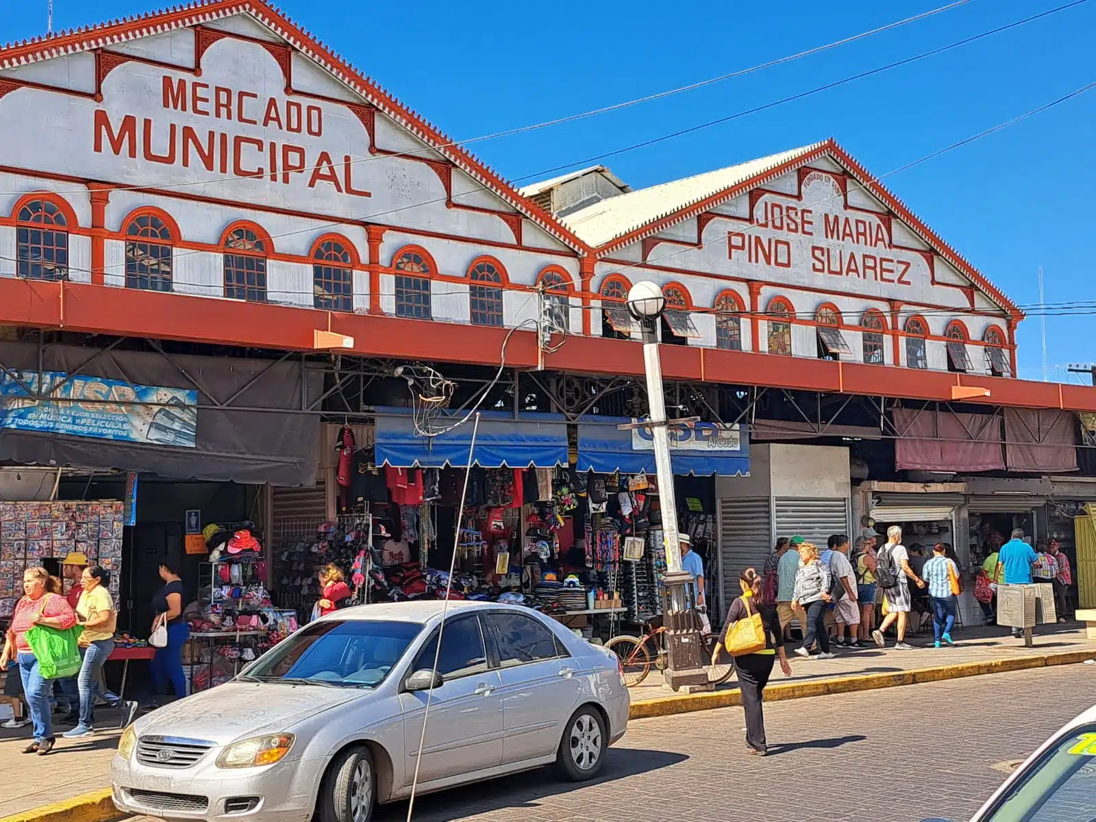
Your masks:
M607 256L625 246L684 222L822 157L829 157L844 167L867 192L877 197L933 251L981 288L997 306L1016 318L1023 318L1024 312L1008 297L928 228L833 138L726 169L609 197L572 212L560 218L560 221L593 247L598 256Z

